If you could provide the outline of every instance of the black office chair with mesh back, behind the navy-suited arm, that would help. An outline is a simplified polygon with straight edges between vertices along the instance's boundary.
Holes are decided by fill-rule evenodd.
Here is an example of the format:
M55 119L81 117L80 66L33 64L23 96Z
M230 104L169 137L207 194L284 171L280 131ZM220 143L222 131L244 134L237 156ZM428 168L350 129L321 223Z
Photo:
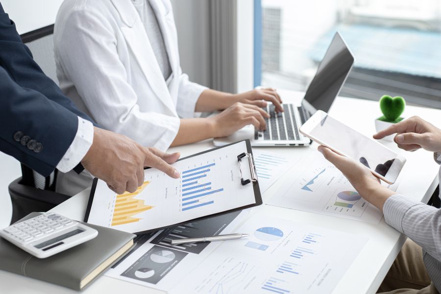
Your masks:
M57 85L57 73L53 53L53 27L48 25L21 35L23 43L32 52L35 62ZM44 177L22 164L22 176L9 184L12 202L11 223L31 212L46 212L69 196L55 193L57 171Z

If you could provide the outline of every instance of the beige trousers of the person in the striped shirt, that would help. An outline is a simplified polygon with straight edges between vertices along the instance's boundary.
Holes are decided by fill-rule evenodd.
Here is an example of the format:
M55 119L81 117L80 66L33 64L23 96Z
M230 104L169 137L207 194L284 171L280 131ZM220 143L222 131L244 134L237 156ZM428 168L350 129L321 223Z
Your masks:
M424 266L422 249L407 239L377 293L439 294Z

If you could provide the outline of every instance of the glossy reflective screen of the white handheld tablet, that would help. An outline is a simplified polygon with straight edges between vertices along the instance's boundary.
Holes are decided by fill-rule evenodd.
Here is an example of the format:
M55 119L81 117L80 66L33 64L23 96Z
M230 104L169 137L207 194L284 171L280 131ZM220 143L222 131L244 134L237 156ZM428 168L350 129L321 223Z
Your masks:
M397 154L392 150L327 114L323 114L320 122L309 133L327 146L340 151L347 157L360 161L383 176L389 171L392 163L398 160Z

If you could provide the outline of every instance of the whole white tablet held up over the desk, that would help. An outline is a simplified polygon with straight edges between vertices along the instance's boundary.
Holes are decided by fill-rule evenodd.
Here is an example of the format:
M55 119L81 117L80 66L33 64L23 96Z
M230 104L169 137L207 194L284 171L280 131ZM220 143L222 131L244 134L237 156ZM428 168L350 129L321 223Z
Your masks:
M383 181L393 184L406 159L318 110L300 127L300 133L334 152L367 166Z

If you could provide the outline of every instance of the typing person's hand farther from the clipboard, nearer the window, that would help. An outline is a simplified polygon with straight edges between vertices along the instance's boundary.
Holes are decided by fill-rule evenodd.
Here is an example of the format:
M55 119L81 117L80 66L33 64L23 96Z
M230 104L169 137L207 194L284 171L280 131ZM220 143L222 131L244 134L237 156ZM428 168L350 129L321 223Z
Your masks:
M244 104L256 105L260 108L267 106L267 101L271 102L275 106L275 110L278 112L283 111L282 99L276 90L273 88L254 89L241 94L233 94L230 98L231 105L235 102L241 102Z

